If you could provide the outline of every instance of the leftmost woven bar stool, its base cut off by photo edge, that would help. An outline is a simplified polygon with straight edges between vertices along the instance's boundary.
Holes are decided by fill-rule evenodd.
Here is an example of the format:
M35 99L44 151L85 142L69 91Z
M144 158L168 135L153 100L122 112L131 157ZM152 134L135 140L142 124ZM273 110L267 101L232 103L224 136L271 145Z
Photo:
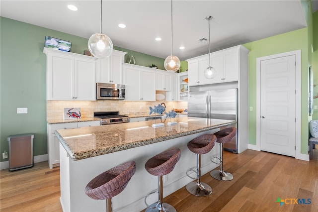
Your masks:
M115 166L92 179L85 194L94 200L106 200L106 212L112 212L112 198L125 189L135 171L135 161Z

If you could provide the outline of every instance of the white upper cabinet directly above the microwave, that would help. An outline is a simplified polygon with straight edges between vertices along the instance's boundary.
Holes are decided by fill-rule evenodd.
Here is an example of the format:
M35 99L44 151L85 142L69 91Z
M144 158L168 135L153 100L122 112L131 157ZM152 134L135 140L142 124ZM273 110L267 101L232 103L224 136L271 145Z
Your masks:
M97 60L96 82L123 84L123 63L127 52L113 50L106 58Z

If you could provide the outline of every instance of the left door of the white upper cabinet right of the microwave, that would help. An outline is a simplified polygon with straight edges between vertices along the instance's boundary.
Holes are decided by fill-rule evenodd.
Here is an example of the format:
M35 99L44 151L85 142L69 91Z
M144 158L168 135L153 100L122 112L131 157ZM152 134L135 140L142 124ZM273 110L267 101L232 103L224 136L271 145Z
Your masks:
M141 70L130 67L124 69L125 100L140 101L141 97Z

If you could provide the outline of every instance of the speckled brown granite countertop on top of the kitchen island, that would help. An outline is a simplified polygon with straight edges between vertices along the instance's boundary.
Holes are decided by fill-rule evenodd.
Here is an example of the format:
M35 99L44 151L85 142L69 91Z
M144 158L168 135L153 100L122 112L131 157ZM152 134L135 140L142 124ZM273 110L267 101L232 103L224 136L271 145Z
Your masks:
M152 127L155 121L140 121L58 129L55 134L70 158L81 160L236 123L233 120L196 117L180 117L175 121L177 124L167 125L168 120L165 120L164 126L157 128Z

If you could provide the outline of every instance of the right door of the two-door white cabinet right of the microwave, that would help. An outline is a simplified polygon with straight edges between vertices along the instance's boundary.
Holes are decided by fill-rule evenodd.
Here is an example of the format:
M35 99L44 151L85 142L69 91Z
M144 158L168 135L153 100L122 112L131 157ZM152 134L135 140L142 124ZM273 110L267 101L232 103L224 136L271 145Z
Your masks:
M142 83L142 87L141 87L142 100L156 101L155 72L143 71L141 83Z

